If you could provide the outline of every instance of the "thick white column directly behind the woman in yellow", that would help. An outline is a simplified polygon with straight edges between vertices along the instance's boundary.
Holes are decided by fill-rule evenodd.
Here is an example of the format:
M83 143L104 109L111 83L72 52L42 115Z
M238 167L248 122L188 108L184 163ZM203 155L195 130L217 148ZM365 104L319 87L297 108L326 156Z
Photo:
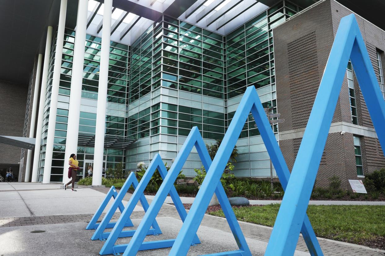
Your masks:
M72 78L70 104L68 110L67 140L65 142L63 183L67 183L68 160L71 154L77 154L79 135L80 100L82 98L82 81L84 66L85 30L87 29L88 0L79 0L75 31L74 60L72 62Z

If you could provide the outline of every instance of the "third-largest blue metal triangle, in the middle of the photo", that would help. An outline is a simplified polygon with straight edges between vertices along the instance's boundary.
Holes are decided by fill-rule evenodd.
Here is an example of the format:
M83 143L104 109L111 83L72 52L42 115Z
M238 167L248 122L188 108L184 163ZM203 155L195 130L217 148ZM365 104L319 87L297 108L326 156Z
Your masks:
M187 136L187 139L184 142L181 150L179 151L179 154L177 155L177 157L174 161L174 164L172 164L166 178L163 179L161 187L159 188L158 192L156 193L155 198L149 207L149 210L144 215L144 217L143 217L141 223L139 224L134 236L131 238L131 241L128 244L126 250L124 251L123 256L134 256L137 254L137 252L139 250L142 250L144 243L149 243L149 242L143 243L143 240L146 236L146 232L149 229L151 222L155 219L156 215L158 214L159 210L161 209L161 206L162 206L164 200L166 200L168 191L170 191L170 189L171 190L175 189L174 182L175 182L179 172L182 170L182 167L183 167L184 163L186 162L187 157L189 156L189 154L190 154L190 152L194 146L195 146L196 150L198 151L199 157L201 157L203 166L206 168L206 170L208 170L210 168L211 158L210 158L210 155L206 149L206 144L204 144L204 142L203 142L203 139L202 139L201 134L198 130L198 127L193 127L191 129L191 132ZM231 151L232 151L232 149L231 149ZM228 159L229 159L229 157L224 161L225 165L227 164ZM222 172L224 169L225 168L223 167ZM228 224L230 226L231 232L233 233L234 238L235 238L236 243L238 244L238 248L239 248L239 250L236 250L236 251L216 253L215 255L251 256L250 249L246 243L246 239L244 238L243 233L241 231L241 228L239 226L239 223L235 217L234 211L231 208L231 205L230 205L229 200L227 198L226 192L224 191L222 183L218 183L215 186L213 185L213 193L214 193L214 190L215 190L216 196L218 197L218 201L222 206L222 210L224 212L224 215L226 216L226 219L227 219ZM212 196L213 196L213 194L211 194L209 201L210 201ZM207 209L207 206L203 210L203 215ZM202 218L203 218L203 215L202 215ZM123 214L122 214L122 216L123 216ZM182 219L182 221L185 221L184 218ZM200 223L200 221L199 221L199 223ZM198 224L198 226L199 226L199 224ZM193 232L187 232L188 235L191 237L191 240L188 242L188 244L186 244L187 250L190 248L191 244L195 243L194 237L196 236L195 234L196 234L197 230L195 230ZM172 241L169 244L167 244L168 246L164 246L164 247L171 247L174 244L174 240L175 239L172 239ZM152 249L152 248L148 248L148 249ZM177 255L182 255L182 254L177 254Z

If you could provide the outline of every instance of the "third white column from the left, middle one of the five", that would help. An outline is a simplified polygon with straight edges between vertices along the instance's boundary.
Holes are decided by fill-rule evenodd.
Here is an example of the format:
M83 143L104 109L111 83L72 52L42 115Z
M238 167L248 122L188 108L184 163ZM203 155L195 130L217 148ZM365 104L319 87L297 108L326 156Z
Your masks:
M67 13L67 0L60 0L59 25L55 48L54 74L52 76L51 103L49 111L47 147L45 151L43 183L49 183L51 178L52 151L54 147L57 98L59 96L60 69L62 66L63 41L65 28L65 15Z

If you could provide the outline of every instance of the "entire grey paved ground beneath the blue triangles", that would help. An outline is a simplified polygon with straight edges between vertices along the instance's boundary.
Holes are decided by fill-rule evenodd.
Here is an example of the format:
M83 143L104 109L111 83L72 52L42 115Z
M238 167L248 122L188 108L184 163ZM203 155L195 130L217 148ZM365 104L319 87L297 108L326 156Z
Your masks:
M87 225L86 222L90 220L96 210L95 205L99 206L109 188L79 188L78 192L69 192L57 189L55 186L58 185L56 184L50 184L54 186L50 187L49 190L47 190L45 185L29 184L33 187L17 187L15 184L10 184L13 187L13 192L20 194L20 199L15 194L9 194L12 193L12 191L9 191L12 189L2 190L1 188L5 187L2 187L3 185L0 183L1 208L12 207L12 205L14 205L12 201L24 200L25 206L31 209L29 213L18 208L10 208L7 211L0 210L0 240L6 241L9 238L12 239L12 244L2 244L0 254L3 254L4 256L21 254L99 255L99 250L104 242L91 241L89 238L93 231L84 230L84 228ZM24 185L28 186L27 184ZM25 192L30 194L24 195L22 191L17 188L23 188L23 190L27 189ZM58 196L59 194L61 197ZM127 193L124 197L124 202L128 201L130 197L131 194ZM60 202L64 201L65 205L61 207L56 204L53 207L56 209L55 214L51 214L52 210L45 209L50 208L50 204L54 203L55 200L60 200L60 198ZM84 200L84 198L86 200ZM47 202L45 202L44 205L40 205L40 208L43 209L38 211L36 206L38 203L42 203L40 199L44 199ZM66 204L67 201L69 201L68 205ZM151 200L149 199L149 201ZM70 205L74 203L75 205ZM85 206L82 206L82 204ZM76 209L78 207L79 209ZM62 208L69 208L72 212L67 210L64 211ZM13 213L14 216L4 215L3 212ZM114 219L116 220L119 216L119 212L115 213ZM135 226L139 224L143 216L143 209L140 206L137 206L136 211L134 211L131 215L131 219L133 220ZM163 232L162 235L147 236L146 239L175 238L182 224L176 208L173 205L168 204L164 204L162 206L162 209L158 214L157 221L161 226ZM253 255L263 255L272 228L241 221L239 223ZM30 232L34 230L42 230L45 232L31 234ZM213 236L213 234L215 235ZM226 219L224 218L205 215L198 230L198 236L202 243L198 246L191 247L189 255L202 255L236 249L234 238L232 237ZM129 239L130 238L119 238L118 243L128 243ZM383 256L385 254L385 251L365 246L332 241L323 238L318 238L318 240L324 255ZM296 249L295 255L310 255L302 237L298 240ZM169 248L165 248L142 251L137 255L167 255L168 251Z

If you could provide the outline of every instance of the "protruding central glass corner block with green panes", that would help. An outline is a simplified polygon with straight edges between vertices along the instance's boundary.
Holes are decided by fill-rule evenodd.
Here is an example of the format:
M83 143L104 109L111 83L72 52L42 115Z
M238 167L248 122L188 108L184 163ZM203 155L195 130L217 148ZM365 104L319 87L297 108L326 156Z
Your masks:
M129 170L159 153L171 164L193 126L207 142L224 135L223 36L167 16L132 45ZM184 173L201 168L192 153Z

